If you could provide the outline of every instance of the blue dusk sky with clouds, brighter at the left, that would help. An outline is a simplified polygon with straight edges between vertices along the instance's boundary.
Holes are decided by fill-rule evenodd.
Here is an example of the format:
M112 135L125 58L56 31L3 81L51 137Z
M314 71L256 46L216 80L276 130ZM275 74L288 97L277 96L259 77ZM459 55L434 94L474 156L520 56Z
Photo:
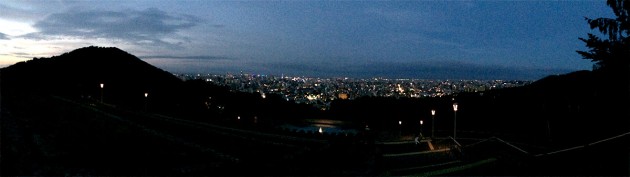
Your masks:
M175 73L523 79L590 70L605 1L0 1L0 67L118 47Z

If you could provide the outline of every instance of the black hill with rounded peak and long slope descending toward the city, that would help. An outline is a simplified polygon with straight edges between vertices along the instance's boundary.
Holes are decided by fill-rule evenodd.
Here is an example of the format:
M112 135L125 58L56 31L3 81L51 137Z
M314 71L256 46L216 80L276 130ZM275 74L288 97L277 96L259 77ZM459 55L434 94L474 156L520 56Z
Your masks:
M35 58L2 68L1 74L2 93L9 100L37 94L100 101L102 94L105 104L132 110L148 107L197 120L209 116L295 119L300 117L296 115L317 114L310 106L289 103L273 94L263 100L257 93L232 92L201 80L182 81L115 47L90 46Z

